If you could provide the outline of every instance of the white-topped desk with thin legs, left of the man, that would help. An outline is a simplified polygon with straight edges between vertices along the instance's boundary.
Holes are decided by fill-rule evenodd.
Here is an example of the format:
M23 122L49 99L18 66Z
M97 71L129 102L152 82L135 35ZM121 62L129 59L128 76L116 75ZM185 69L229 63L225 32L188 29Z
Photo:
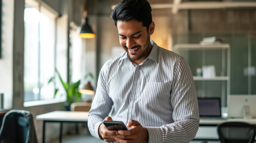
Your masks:
M45 142L45 123L58 122L60 123L60 143L62 139L63 123L87 123L87 111L52 111L50 113L40 114L36 116L36 120L43 120L43 135L42 142Z

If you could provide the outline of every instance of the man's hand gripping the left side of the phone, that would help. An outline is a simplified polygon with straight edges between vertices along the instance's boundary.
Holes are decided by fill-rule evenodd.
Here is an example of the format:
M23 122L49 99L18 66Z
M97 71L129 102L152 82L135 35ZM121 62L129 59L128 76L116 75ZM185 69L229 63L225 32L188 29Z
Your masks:
M104 121L113 121L113 120L109 116L109 117L106 117ZM118 134L118 131L108 130L103 123L100 125L100 128L98 128L98 135L100 135L101 138L103 138L104 141L106 142L115 142L116 141L115 137L117 134Z

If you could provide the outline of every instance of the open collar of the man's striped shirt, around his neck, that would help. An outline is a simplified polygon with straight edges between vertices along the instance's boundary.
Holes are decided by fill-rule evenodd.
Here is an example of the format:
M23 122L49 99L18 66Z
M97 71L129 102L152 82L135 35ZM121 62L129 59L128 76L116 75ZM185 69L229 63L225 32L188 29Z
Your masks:
M149 56L147 56L147 58L149 58L149 59L155 61L156 63L158 63L158 45L156 45L156 43L152 40L150 40L150 43L152 45L152 49L150 51ZM124 54L122 55L122 57L120 58L119 61L124 60L126 58L128 59L128 55L127 55L127 52L124 52ZM147 58L145 60L147 60Z

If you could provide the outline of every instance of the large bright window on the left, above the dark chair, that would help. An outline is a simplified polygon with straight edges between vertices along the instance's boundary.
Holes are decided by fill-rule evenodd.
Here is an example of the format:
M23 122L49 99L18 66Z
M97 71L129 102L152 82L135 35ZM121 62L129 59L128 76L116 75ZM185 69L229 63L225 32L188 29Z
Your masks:
M38 1L26 0L24 8L24 101L54 98L56 17Z

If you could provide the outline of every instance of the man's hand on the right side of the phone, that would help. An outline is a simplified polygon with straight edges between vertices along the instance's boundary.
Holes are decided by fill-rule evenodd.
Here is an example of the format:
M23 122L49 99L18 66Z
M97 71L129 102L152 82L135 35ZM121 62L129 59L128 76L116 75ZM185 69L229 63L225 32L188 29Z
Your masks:
M147 129L143 128L135 120L129 120L127 125L130 130L118 130L119 135L116 135L117 142L149 142L149 134Z

